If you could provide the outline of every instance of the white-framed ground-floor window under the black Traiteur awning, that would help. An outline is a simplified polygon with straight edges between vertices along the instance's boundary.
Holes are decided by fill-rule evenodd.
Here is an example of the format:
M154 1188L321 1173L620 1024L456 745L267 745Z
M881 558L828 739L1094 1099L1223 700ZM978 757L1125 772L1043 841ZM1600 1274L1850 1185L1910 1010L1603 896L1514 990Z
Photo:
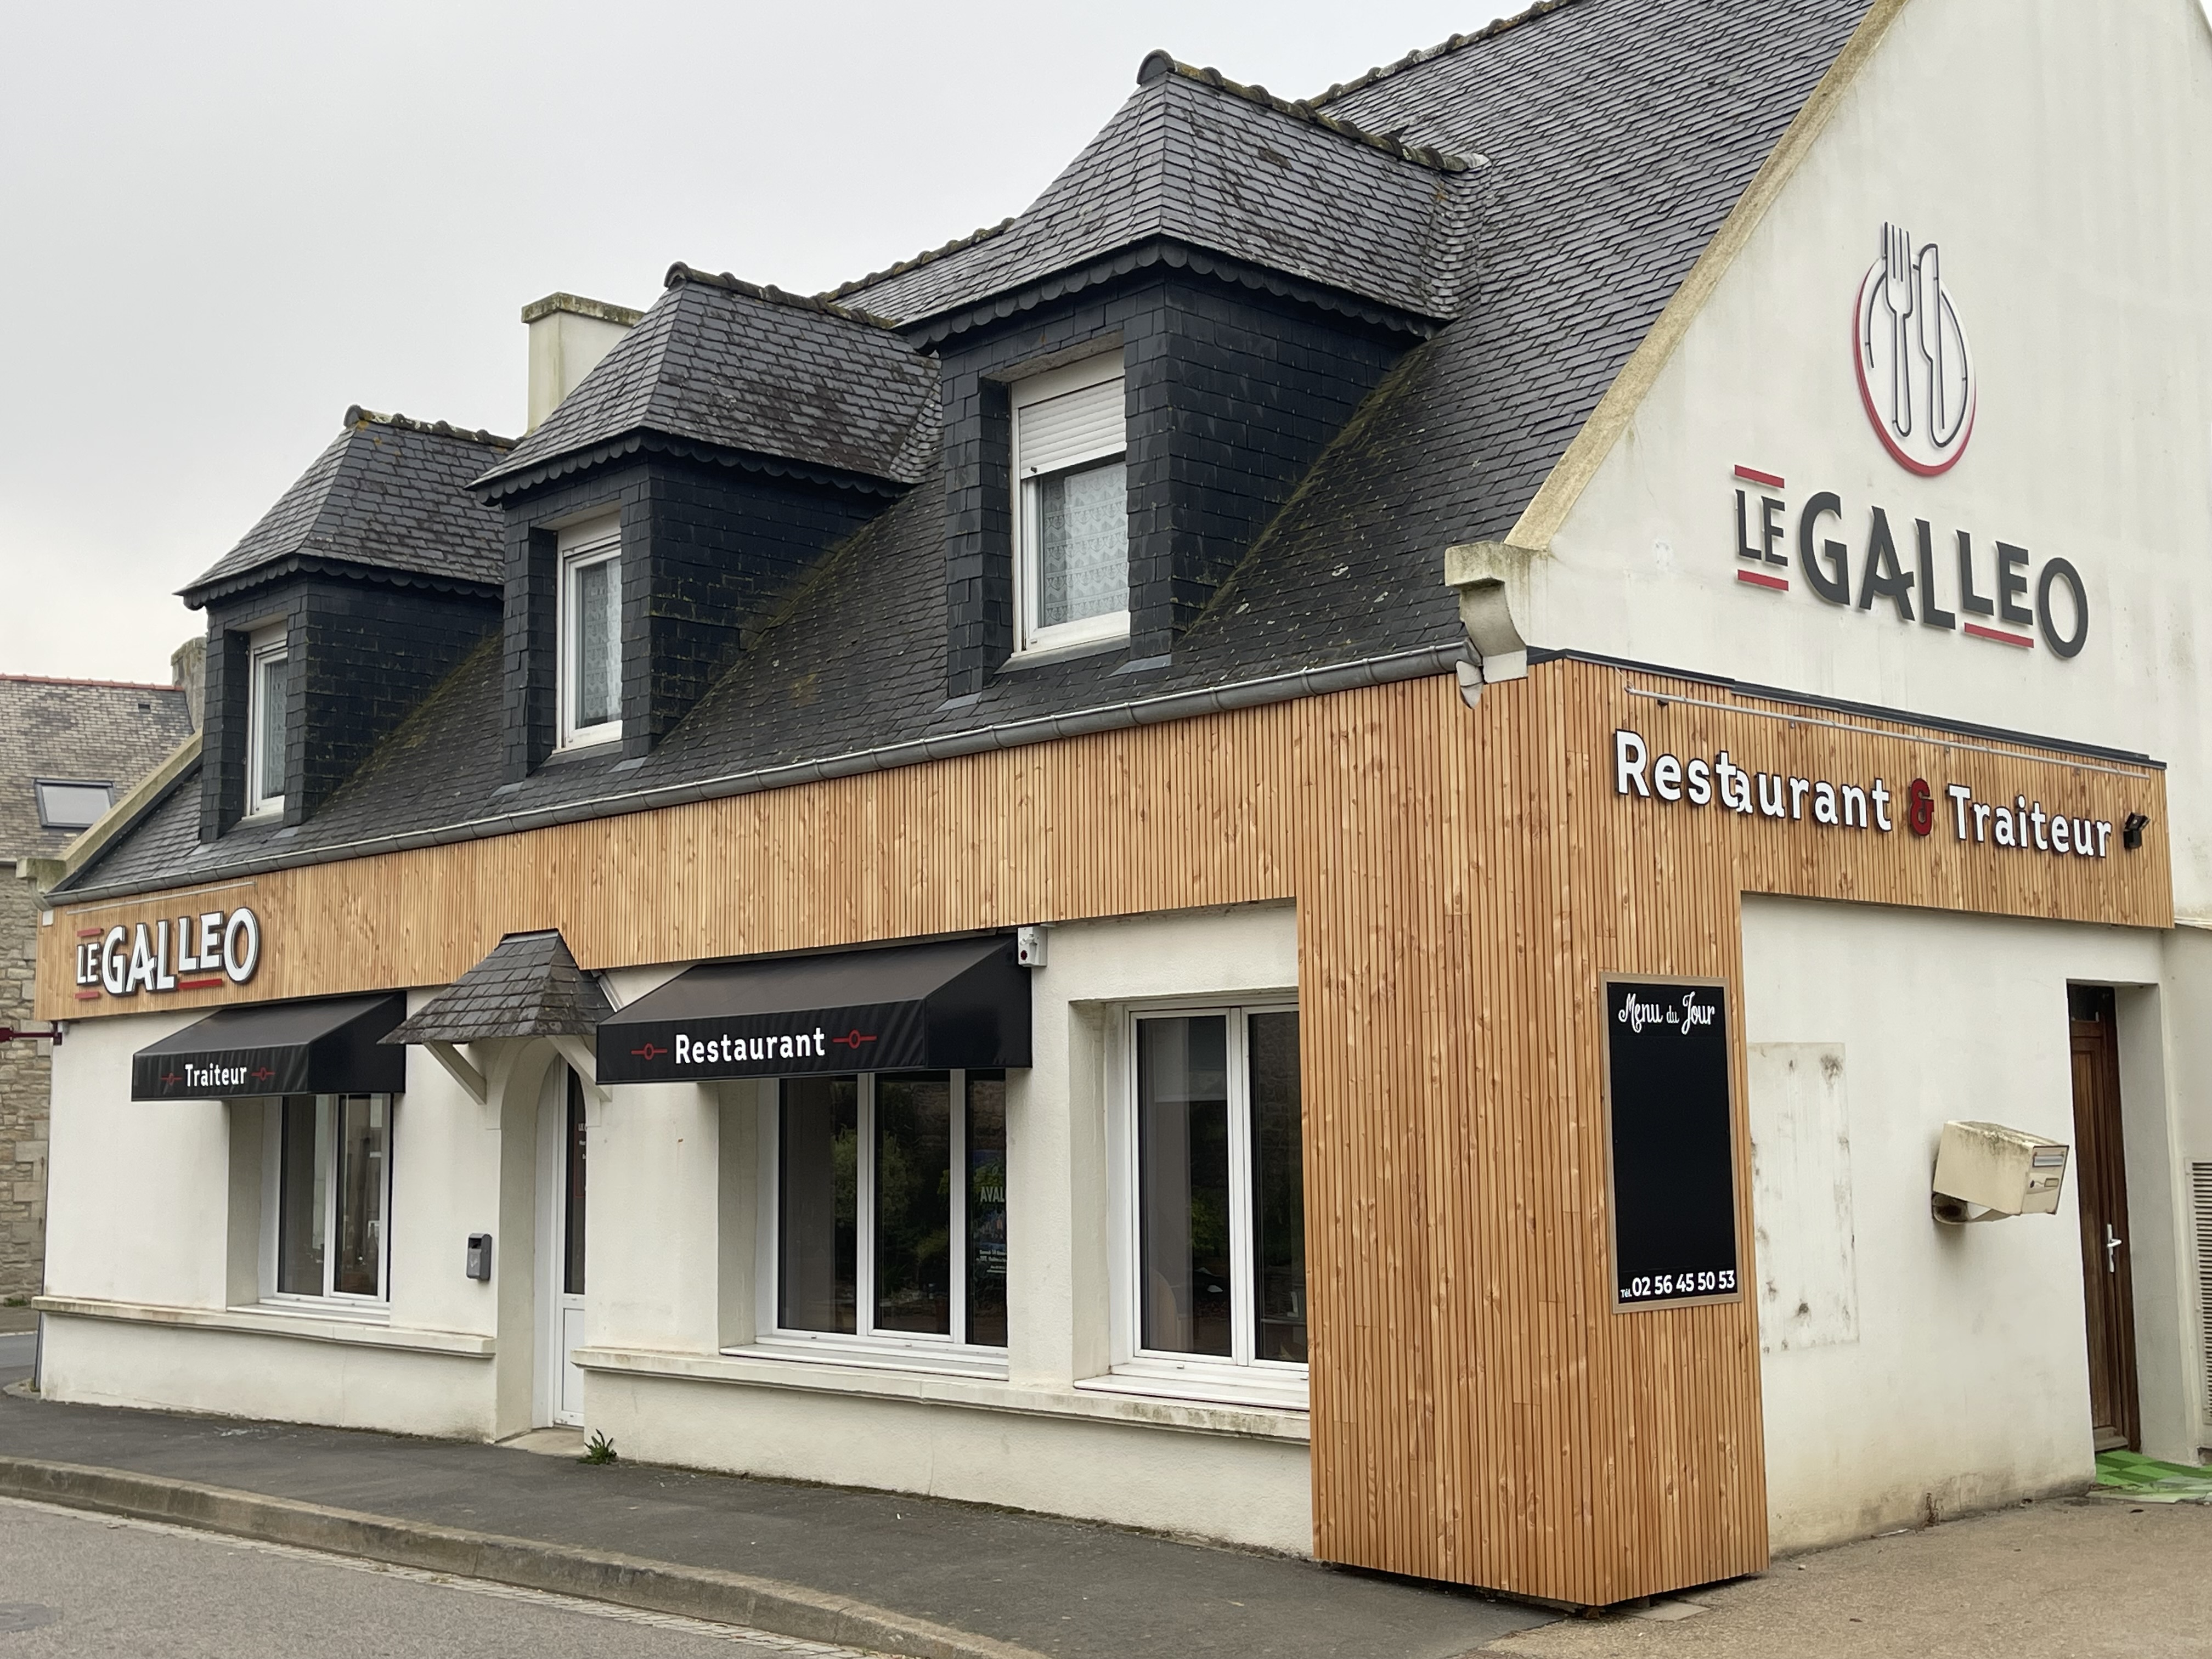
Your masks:
M378 1312L392 1298L392 1095L263 1108L270 1301Z

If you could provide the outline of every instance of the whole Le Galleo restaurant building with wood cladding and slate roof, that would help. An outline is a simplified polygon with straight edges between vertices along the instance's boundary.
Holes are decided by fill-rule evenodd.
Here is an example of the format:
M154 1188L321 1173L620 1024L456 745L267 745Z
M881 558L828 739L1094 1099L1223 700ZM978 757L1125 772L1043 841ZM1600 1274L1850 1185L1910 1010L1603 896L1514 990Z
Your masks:
M1577 1604L2194 1460L2208 170L2188 0L1553 0L531 307L186 588L44 1391Z

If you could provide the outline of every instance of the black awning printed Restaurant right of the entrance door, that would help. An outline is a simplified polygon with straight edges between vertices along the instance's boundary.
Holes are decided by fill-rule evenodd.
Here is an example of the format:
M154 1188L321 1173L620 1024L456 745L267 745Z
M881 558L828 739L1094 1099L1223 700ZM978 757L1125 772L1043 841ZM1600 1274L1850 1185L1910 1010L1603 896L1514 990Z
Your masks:
M599 1022L599 1082L1029 1064L1013 936L710 962Z

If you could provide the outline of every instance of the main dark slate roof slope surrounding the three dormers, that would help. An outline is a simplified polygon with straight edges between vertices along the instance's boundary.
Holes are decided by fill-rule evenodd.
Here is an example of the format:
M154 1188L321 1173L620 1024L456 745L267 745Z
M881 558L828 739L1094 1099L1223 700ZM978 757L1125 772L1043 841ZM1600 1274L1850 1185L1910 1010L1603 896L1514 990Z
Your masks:
M1241 137L1221 139L1214 155L1223 166L1243 155L1239 166L1261 177L1250 190L1223 186L1243 204L1270 199L1263 184L1281 170L1237 144L1265 144L1316 177L1323 164L1310 146L1327 144L1332 157L1343 153L1332 168L1365 168L1378 188L1389 181L1385 201L1400 201L1391 195L1398 179L1418 177L1431 192L1442 186L1458 243L1438 259L1460 265L1449 279L1455 321L1398 361L1164 666L1077 657L1002 672L973 701L945 701L947 502L929 403L907 436L918 447L900 451L927 456L927 476L814 566L650 754L626 761L608 745L500 787L500 653L487 641L310 823L239 827L201 845L197 792L179 787L73 885L155 887L493 832L515 816L635 810L644 790L679 799L734 787L734 774L830 765L885 745L1000 741L991 732L1024 721L1064 726L1086 719L1084 710L1201 697L1270 675L1369 659L1391 659L1402 672L1413 672L1407 664L1447 670L1464 635L1442 586L1442 551L1511 529L1863 11L1865 0L1568 0L1321 102L1360 131L1484 157L1467 173L1400 159L1181 71L1141 88L1108 133L1135 133L1144 119L1172 117L1181 131L1197 131L1199 115L1217 122L1214 131ZM1462 186L1473 190L1453 195ZM1436 234L1436 223L1422 221L1422 234ZM1068 226L1062 259L1121 234L1079 212ZM967 283L1004 281L1031 257L1022 248L1042 259L1044 246L1018 241L1013 228L987 232L869 279L841 303L916 314L945 294L978 292ZM995 263L980 276L984 254ZM1256 254L1256 246L1239 252ZM708 301L734 312L730 294L743 299L686 281L655 314ZM854 319L759 305L834 323L838 338L880 336ZM639 332L653 325L648 314ZM816 396L836 387L825 383Z

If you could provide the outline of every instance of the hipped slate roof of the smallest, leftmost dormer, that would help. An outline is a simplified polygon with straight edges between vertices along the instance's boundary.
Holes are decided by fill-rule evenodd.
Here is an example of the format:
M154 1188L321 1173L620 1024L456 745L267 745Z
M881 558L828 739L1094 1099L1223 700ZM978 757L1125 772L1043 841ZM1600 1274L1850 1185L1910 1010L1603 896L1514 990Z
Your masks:
M190 606L294 560L500 586L507 529L467 491L511 438L445 420L345 411L343 431L234 549L195 577Z

